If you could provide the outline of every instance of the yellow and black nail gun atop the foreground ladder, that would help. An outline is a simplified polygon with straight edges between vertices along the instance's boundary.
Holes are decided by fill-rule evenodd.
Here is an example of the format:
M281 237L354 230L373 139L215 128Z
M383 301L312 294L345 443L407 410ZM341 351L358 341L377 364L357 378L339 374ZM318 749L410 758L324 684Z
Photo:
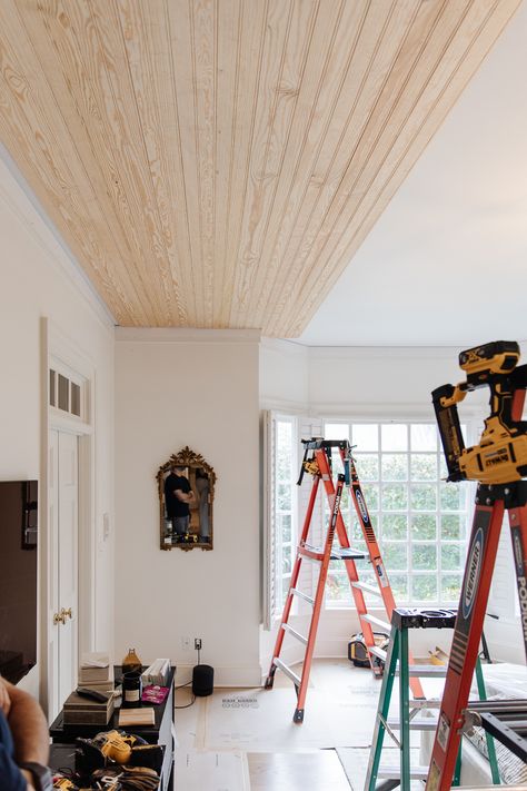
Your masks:
M496 340L459 355L466 382L443 385L431 396L445 451L448 481L513 483L527 477L527 422L521 421L527 365L518 366L519 346ZM490 415L479 445L465 447L457 405L468 392L490 388Z

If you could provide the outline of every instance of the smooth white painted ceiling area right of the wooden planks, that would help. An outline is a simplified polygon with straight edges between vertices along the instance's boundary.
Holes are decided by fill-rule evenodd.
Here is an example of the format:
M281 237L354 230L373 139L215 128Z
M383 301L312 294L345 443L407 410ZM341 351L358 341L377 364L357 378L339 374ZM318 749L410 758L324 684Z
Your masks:
M527 338L527 2L299 338Z

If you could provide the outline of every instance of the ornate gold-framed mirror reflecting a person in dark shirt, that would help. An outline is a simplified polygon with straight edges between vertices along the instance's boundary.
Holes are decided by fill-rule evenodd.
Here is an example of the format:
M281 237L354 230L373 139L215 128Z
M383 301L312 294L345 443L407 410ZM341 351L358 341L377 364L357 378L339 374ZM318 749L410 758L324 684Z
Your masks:
M156 477L161 550L211 550L216 473L210 464L186 446Z

